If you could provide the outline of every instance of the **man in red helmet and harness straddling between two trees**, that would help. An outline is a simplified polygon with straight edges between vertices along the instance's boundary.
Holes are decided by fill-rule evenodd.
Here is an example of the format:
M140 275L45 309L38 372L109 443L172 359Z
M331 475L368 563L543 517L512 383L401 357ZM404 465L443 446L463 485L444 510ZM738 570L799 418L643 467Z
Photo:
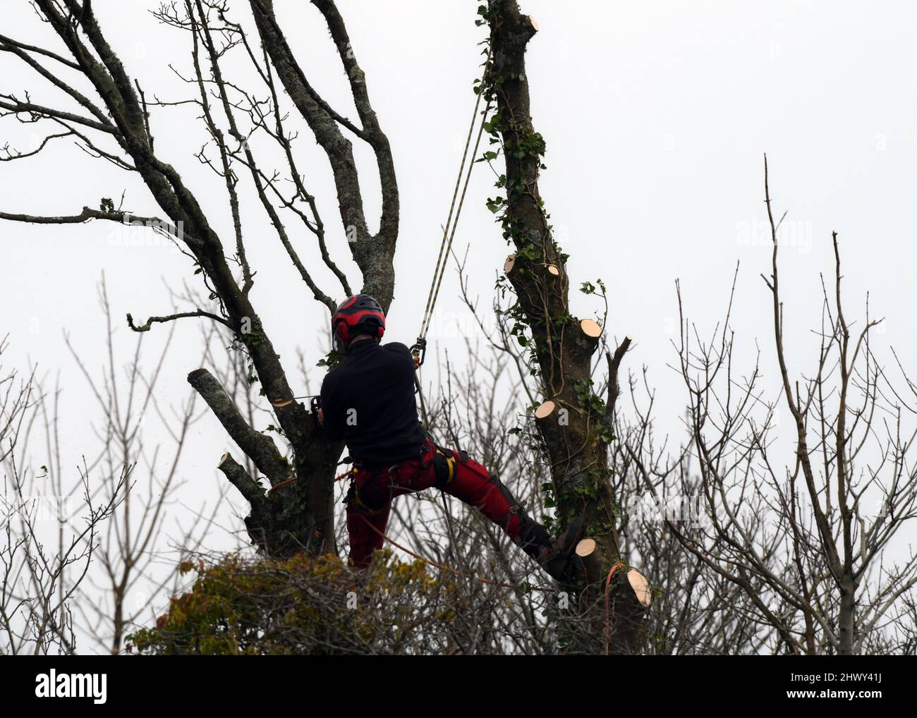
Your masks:
M367 294L348 297L331 320L344 360L322 383L319 420L353 459L347 503L350 564L365 567L382 545L392 499L436 487L481 510L555 579L565 578L582 519L554 541L496 476L464 451L437 447L417 419L414 358L382 346L385 314Z

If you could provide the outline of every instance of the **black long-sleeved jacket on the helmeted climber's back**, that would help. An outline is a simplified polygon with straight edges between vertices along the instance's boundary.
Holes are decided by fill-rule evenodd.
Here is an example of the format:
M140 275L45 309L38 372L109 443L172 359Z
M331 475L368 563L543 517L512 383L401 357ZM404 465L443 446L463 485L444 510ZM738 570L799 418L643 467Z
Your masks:
M322 382L322 412L332 439L370 468L417 458L424 429L414 401L414 358L403 344L362 339Z

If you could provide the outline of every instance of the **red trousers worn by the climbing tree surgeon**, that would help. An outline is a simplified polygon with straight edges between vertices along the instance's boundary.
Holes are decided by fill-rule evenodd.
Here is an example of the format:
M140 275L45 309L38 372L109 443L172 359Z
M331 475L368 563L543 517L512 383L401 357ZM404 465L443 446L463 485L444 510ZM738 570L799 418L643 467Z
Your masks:
M450 496L475 506L511 538L519 536L521 507L504 495L503 485L464 452L435 447L427 442L424 455L390 469L359 469L352 473L347 498L350 565L369 565L372 552L381 548L392 499L403 493L435 486Z

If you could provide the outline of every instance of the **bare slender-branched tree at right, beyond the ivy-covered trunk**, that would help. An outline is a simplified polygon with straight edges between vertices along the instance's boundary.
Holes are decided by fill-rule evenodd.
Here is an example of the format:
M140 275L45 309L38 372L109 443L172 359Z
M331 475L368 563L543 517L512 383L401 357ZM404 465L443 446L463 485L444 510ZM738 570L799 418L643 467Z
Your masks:
M730 312L702 341L682 309L679 371L706 525L692 536L668 526L707 569L744 591L757 621L774 631L769 650L861 653L889 645L882 635L889 616L907 610L917 582L917 556L894 543L917 515L917 394L900 363L893 381L879 359L871 331L881 320L870 317L868 302L859 328L848 321L836 233L817 360L808 374L791 375L767 160L765 196L774 249L764 281L779 395L768 398L760 355L750 372L735 370ZM778 402L792 418L789 458L775 436ZM679 488L691 490L684 480Z

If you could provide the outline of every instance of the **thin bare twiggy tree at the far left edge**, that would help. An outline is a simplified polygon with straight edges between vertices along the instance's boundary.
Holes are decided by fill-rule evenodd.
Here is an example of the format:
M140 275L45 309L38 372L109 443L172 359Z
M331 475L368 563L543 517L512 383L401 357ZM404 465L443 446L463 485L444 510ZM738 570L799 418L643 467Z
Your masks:
M0 342L0 358L6 346L6 339ZM76 649L76 593L107 520L124 499L128 469L101 498L85 462L69 485L61 474L53 408L59 392L43 394L34 375L22 380L15 371L0 375L0 653L70 654ZM37 425L45 436L40 448L30 440ZM40 468L36 455L43 458Z

